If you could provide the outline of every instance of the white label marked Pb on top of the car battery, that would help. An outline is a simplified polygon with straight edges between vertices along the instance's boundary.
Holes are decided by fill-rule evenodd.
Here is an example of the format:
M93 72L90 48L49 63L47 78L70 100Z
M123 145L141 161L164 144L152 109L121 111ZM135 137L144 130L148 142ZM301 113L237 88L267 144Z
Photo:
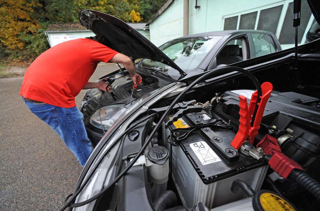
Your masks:
M189 145L194 151L202 165L221 161L218 155L209 147L206 142L195 142Z

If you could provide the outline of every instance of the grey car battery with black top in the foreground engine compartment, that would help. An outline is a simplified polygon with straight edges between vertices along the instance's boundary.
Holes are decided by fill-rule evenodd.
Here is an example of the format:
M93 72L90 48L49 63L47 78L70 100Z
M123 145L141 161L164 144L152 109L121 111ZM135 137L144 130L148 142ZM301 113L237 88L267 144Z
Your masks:
M172 130L192 130L177 146L165 144L172 150L172 179L185 207L201 201L211 209L244 199L244 192L231 192L232 182L243 180L258 191L267 173L265 163L240 154L230 145L236 135L230 128L214 122L216 119L202 110L183 115L167 129L163 127L163 137L169 137Z

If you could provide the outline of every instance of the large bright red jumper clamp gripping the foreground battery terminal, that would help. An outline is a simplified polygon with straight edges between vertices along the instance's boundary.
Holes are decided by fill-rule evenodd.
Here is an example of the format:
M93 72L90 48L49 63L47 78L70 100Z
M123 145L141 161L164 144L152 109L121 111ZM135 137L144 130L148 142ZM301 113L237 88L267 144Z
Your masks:
M261 119L263 117L263 111L272 92L272 84L269 82L264 82L263 84L261 84L261 90L262 95L260 96L260 102L258 102L259 107L257 109L257 113L255 115L255 119L252 126L250 125L250 122L252 121L254 108L258 101L258 91L256 90L254 93L252 93L249 108L247 98L242 95L239 95L240 125L235 138L231 142L231 146L233 146L235 149L239 149L241 144L248 138L248 136L250 143L253 144L254 137L258 134Z

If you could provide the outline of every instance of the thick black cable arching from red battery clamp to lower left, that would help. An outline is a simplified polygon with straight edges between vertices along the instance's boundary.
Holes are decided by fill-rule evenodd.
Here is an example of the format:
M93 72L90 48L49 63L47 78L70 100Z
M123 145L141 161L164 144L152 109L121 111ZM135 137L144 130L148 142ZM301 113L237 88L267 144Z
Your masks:
M221 72L226 72L226 71L237 71L240 73L243 73L244 75L246 75L247 77L249 77L254 85L256 86L256 89L258 90L258 98L257 98L257 104L258 105L258 100L260 99L261 96L261 86L260 83L258 81L258 79L249 71L239 68L239 67L222 67L219 69L215 69L212 70L200 77L198 77L195 81L193 81L191 84L188 85L188 87L186 87L186 89L184 89L170 104L170 106L168 107L168 109L164 112L164 114L162 115L162 117L160 118L160 120L158 121L158 124L154 127L154 129L152 130L152 132L150 133L148 139L146 140L146 142L142 145L141 149L139 150L139 152L136 154L136 156L132 159L132 161L128 164L127 167L124 168L124 170L111 182L108 184L107 187L105 187L104 189L102 189L98 194L96 194L95 196L93 196L90 199L87 199L83 202L80 203L76 203L76 204L70 204L69 207L81 207L84 206L96 199L98 199L100 196L102 196L106 191L108 191L108 189L110 187L112 187L113 185L115 185L123 176L124 174L127 173L127 171L129 171L129 169L133 166L133 164L138 160L138 158L141 156L141 154L143 153L143 151L147 148L149 142L151 141L151 139L153 138L153 136L156 134L156 132L158 131L159 127L161 126L161 123L164 121L164 119L169 115L169 112L171 112L172 108L174 107L174 105L176 103L178 103L180 101L180 99L190 90L192 89L199 81L203 81L205 78L210 77L211 75L214 74L218 74ZM255 111L256 112L256 111ZM69 204L69 203L68 203ZM67 208L67 207L66 207ZM66 209L64 208L64 209ZM62 210L64 210L62 209Z

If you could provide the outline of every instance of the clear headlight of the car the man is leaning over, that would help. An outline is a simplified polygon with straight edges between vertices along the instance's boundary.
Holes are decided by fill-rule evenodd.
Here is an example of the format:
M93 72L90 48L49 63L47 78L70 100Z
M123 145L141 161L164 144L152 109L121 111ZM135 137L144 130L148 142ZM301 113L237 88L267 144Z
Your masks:
M103 129L108 130L125 110L124 104L102 107L100 109L100 116L99 110L96 110L92 114L90 124L97 128L102 129L103 127Z

